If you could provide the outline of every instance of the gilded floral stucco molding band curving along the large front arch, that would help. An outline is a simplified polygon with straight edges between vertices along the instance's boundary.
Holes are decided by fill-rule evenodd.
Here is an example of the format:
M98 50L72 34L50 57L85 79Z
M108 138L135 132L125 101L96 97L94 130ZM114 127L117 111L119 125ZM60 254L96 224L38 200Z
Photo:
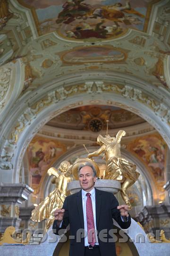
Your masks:
M49 92L47 96L34 103L32 106L29 106L17 119L14 128L10 133L10 137L6 139L4 147L2 148L1 157L5 164L1 164L1 166L4 166L5 169L10 169L11 166L8 166L8 162L11 161L14 155L12 148L16 148L18 138L23 130L26 127L28 128L32 121L36 119L37 114L46 107L51 104L56 104L61 100L66 100L73 95L75 96L82 93L98 94L102 92L116 93L129 100L138 101L153 110L155 115L161 118L162 122L170 125L170 110L168 107L166 107L164 103L160 103L158 100L151 98L151 95L147 94L145 91L141 91L133 86L106 84L102 81L88 81L78 86L60 86L57 90Z

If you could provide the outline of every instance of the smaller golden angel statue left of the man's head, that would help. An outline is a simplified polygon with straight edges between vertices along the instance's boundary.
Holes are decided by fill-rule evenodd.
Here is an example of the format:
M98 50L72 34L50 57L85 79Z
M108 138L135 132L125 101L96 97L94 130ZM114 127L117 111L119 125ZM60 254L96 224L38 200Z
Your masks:
M34 210L32 210L31 219L33 221L42 221L47 219L45 223L45 231L47 231L54 222L54 211L61 209L63 202L68 196L67 184L73 181L71 175L72 165L68 161L63 161L59 165L59 169L51 167L48 170L49 175L54 175L51 183L56 184L56 189L54 189L49 196L47 196Z

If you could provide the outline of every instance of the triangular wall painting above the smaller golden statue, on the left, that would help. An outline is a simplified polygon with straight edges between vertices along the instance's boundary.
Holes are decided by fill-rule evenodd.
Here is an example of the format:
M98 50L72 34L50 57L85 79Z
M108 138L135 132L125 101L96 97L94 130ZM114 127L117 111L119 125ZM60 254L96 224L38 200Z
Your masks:
M40 186L52 164L66 152L67 146L61 142L35 136L27 149L30 172L30 186L34 189L34 194L40 192Z

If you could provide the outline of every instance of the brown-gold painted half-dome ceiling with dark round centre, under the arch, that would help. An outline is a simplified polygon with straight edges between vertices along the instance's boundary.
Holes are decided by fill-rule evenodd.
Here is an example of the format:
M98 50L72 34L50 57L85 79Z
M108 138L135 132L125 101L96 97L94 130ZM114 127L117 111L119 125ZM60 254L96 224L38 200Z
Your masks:
M106 130L107 120L109 120L109 129L129 127L145 122L136 114L118 107L93 105L68 110L51 119L47 125L57 128L99 132L100 130Z

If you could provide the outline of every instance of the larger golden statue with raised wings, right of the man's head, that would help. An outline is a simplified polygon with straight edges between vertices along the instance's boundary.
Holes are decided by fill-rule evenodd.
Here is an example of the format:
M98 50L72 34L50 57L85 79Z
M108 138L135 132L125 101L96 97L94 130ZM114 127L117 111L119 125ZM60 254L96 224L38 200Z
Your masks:
M136 172L136 165L129 163L127 159L122 158L120 154L120 141L126 132L119 130L116 137L110 137L106 135L97 137L97 143L101 146L98 150L88 154L88 157L98 156L104 153L106 160L105 179L112 179L121 182L121 196L129 209L132 209L130 201L127 195L127 188L129 188L139 177L139 173Z

